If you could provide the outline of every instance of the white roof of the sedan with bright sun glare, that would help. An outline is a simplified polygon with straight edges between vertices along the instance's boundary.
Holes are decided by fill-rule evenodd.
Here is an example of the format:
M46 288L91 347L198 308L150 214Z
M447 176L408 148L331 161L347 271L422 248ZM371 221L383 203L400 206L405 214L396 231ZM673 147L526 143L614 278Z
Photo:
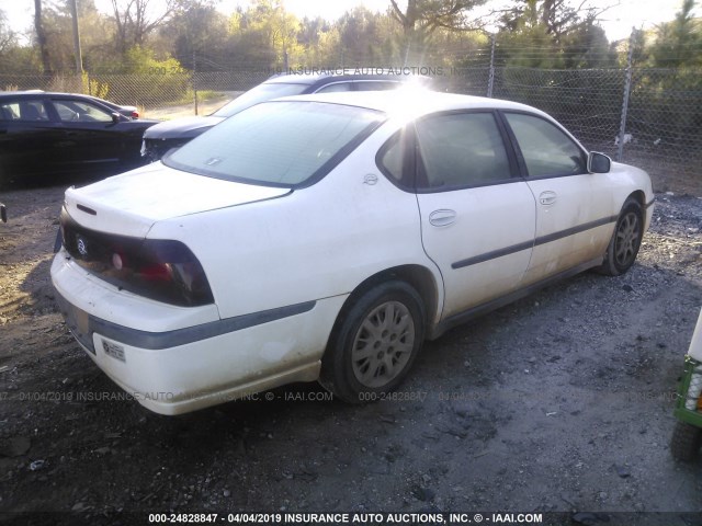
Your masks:
M514 110L548 117L546 113L518 102L488 99L485 96L460 95L456 93L440 93L411 88L394 91L319 93L286 96L278 100L358 106L380 111L389 115L401 114L405 118L417 118L429 113L457 110Z

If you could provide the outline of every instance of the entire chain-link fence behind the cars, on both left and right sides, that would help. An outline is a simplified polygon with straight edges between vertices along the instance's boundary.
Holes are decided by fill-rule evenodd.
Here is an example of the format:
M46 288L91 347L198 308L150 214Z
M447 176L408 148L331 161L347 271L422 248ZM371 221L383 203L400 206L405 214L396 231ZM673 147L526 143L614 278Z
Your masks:
M235 96L274 71L8 76L0 89L82 92L150 110L192 104L204 92ZM647 170L656 190L702 181L702 76L660 69L443 68L435 89L522 102L558 119L591 150ZM625 118L624 118L625 117Z

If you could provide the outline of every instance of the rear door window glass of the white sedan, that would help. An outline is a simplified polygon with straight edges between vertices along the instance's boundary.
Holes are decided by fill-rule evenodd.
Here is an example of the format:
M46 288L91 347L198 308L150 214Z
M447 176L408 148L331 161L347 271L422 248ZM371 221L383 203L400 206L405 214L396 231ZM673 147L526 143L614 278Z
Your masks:
M418 186L451 190L511 176L509 158L492 113L445 114L416 125L421 161Z

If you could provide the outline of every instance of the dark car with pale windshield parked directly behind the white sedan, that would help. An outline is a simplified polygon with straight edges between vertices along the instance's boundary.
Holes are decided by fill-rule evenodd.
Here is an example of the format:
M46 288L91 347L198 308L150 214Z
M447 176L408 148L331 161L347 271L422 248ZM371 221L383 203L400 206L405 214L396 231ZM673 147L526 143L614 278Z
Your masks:
M366 69L371 70L373 68L363 68L363 70ZM380 68L373 70L383 71ZM144 134L141 155L151 162L157 161L170 149L183 146L235 113L239 113L260 102L281 96L344 91L385 91L394 90L408 83L416 83L426 88L431 81L428 77L416 75L386 71L360 75L354 71L338 70L276 75L225 104L212 115L176 118L149 128Z

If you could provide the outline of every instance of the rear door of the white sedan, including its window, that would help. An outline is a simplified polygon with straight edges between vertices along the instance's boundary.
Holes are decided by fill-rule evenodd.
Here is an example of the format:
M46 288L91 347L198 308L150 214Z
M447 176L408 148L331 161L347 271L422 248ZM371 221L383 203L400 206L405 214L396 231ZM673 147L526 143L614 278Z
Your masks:
M421 236L443 276L444 319L519 288L529 266L534 197L502 132L492 112L416 123Z

